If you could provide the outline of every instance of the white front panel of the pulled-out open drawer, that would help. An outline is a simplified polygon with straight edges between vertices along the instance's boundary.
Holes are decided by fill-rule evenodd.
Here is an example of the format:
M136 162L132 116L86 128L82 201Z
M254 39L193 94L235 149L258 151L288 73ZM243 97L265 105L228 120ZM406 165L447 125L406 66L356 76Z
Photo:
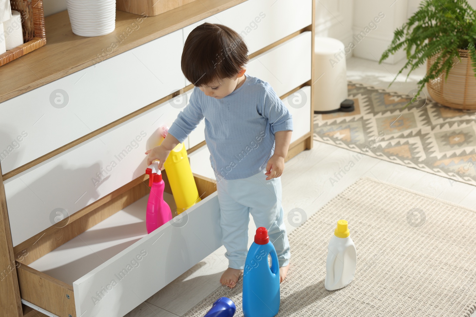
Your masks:
M124 316L221 246L216 192L180 216L75 281L76 316Z

